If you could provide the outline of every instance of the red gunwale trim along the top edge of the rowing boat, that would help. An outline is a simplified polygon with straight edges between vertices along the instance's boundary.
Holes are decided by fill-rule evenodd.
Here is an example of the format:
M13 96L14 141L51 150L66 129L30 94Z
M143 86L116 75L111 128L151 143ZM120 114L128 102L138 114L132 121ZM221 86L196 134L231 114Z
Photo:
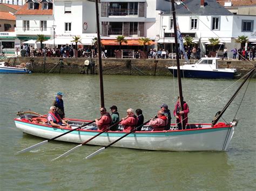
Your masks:
M69 118L70 119L70 118ZM46 126L48 128L53 128L51 125L46 125L46 124L39 124L39 123L32 123L32 122L25 122L22 121L21 119L15 118L14 121L22 122L22 123L29 123L33 125L39 125L39 126ZM72 121L78 121L77 119L72 119ZM91 122L91 121L86 121L86 120L79 120L81 122ZM174 124L171 124L174 125ZM202 124L193 124L193 125L211 125L207 123L202 123ZM232 125L223 125L223 126L214 126L213 128L195 128L195 129L184 129L184 130L169 130L169 131L136 131L136 133L163 133L163 132L182 132L182 131L197 131L197 130L207 130L207 129L221 129L221 128L232 128ZM60 128L53 128L53 129L60 129ZM70 128L64 128L65 130L71 130ZM87 129L78 129L77 131L90 131L90 132L101 132L99 130L87 130ZM114 133L124 133L126 131L107 131L107 132L114 132Z

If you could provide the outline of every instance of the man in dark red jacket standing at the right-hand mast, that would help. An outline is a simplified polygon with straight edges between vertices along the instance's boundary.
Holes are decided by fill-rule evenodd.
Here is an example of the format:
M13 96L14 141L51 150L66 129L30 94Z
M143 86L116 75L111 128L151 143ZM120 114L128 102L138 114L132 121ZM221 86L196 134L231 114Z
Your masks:
M188 104L183 101L183 111L181 111L180 108L180 98L178 96L177 103L175 105L173 116L176 117L176 123L178 125L178 129L182 130L186 128L186 124L188 122L187 114L190 112L190 109L188 108ZM182 119L181 119L182 117ZM181 122L182 120L182 122Z

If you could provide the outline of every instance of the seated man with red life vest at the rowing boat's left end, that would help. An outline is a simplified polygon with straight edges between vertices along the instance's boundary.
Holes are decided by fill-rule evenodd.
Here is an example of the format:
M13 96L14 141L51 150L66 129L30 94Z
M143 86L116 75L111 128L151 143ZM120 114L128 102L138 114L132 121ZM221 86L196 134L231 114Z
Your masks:
M70 128L70 125L65 122L57 113L57 108L55 106L50 107L49 114L47 116L48 122L53 126L53 128L64 129L65 127ZM64 125L66 126L64 126Z

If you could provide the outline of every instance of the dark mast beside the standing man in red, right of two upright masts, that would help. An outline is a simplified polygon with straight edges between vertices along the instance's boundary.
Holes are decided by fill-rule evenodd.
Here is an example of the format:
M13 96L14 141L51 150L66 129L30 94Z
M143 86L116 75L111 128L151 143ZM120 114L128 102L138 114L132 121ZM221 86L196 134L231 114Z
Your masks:
M176 23L176 10L175 10L175 6L174 6L174 0L172 0L172 17L173 17L173 30L174 30L174 39L175 39L176 61L177 61L177 77L178 77L178 85L179 85L180 107L181 107L181 111L183 111L183 103L184 102L183 102L181 77L180 77L178 36L177 36L177 23ZM181 116L181 121L182 120L183 120L183 116Z

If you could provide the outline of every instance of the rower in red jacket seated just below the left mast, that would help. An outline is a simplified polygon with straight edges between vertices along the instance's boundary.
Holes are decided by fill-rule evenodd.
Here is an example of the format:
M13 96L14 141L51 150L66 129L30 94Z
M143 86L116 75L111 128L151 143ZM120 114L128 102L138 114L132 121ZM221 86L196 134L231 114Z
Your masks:
M109 112L106 111L106 108L100 108L100 119L95 119L96 125L100 131L106 130L112 123L112 118Z

